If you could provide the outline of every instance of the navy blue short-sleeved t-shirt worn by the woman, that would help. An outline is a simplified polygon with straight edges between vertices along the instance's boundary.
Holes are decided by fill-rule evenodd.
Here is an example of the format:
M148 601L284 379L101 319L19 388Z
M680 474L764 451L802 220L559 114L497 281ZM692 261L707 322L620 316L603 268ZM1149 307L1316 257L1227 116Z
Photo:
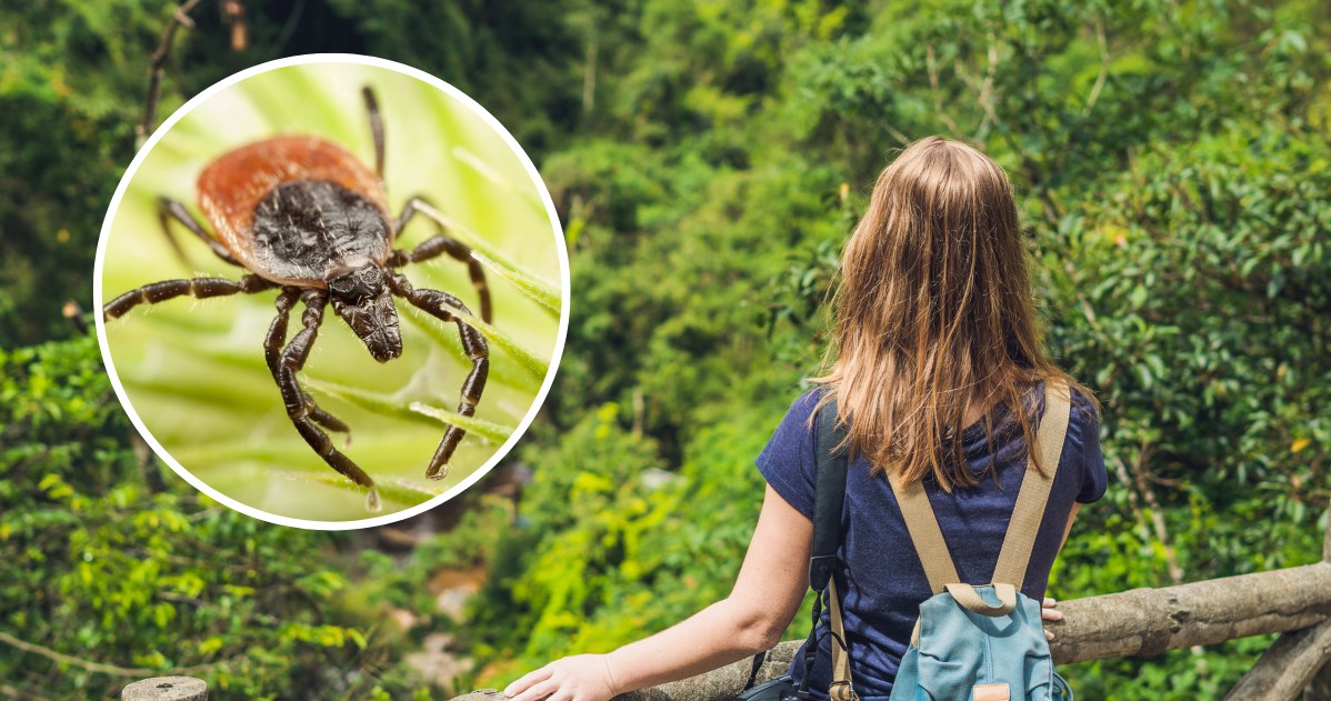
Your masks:
M809 422L819 390L795 400L772 439L757 458L768 484L791 505L813 520L815 447ZM1037 411L1044 411L1044 384L1033 390ZM944 540L968 584L989 584L1017 492L1026 474L1026 448L1021 424L1009 412L994 414L993 458L989 470L989 435L984 420L962 432L966 462L980 484L946 493L932 479L925 492L942 529ZM1067 438L1058 475L1036 536L1022 592L1040 600L1049 584L1049 569L1062 544L1073 501L1089 504L1105 493L1107 475L1099 451L1099 422L1086 399L1074 392ZM833 571L851 650L855 689L864 701L885 701L892 692L901 656L910 644L910 631L920 604L933 596L924 565L910 544L901 509L886 478L870 476L861 455L851 462L841 513L841 549ZM828 625L828 613L823 613ZM815 698L827 698L832 674L831 636L823 636L809 680ZM799 684L804 657L796 654L791 674Z

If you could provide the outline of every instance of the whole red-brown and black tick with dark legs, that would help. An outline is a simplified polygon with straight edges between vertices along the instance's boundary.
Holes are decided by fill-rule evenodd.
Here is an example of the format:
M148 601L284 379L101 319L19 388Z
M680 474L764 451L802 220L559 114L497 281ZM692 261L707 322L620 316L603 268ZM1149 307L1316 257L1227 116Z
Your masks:
M326 431L350 432L346 423L315 404L297 374L331 303L333 311L365 342L375 360L402 355L402 334L393 297L458 327L471 372L462 383L458 414L471 416L480 402L490 370L486 339L470 323L471 313L443 291L415 289L397 270L438 255L467 266L480 301L480 318L491 319L490 289L471 249L438 231L411 250L394 249L397 237L426 201L413 197L397 218L390 217L383 185L383 120L370 88L362 90L374 140L374 170L354 154L327 141L306 136L280 136L222 154L198 176L198 206L212 223L210 234L178 201L160 197L158 218L172 239L174 219L189 229L222 261L248 270L238 281L226 278L168 279L130 290L102 307L106 321L138 305L176 297L225 297L280 290L277 318L264 341L264 358L281 391L295 431L333 470L369 490L366 505L379 509L374 480L333 446ZM178 250L178 249L177 249ZM302 329L286 341L293 307L299 302ZM461 314L459 314L461 313ZM425 476L443 479L449 459L466 431L450 426Z

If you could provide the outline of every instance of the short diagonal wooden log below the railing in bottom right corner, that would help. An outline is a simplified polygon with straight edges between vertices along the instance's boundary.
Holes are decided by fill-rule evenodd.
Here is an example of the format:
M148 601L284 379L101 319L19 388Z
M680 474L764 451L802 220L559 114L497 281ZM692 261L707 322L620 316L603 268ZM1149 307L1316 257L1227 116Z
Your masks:
M1284 633L1262 653L1225 701L1294 701L1331 660L1331 620Z

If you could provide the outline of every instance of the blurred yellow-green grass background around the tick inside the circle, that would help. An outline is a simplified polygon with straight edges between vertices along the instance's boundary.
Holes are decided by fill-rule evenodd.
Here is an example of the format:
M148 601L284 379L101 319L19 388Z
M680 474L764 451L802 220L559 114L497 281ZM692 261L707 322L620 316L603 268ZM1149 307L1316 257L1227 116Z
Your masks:
M303 372L314 382L306 386L323 408L351 426L345 452L381 483L382 513L389 513L443 493L495 452L535 402L558 339L555 222L519 156L461 98L391 69L351 63L277 68L209 96L133 174L105 243L101 289L109 301L160 279L237 279L244 270L212 255L178 225L173 230L188 265L174 255L158 225L156 198L186 202L196 219L206 222L194 204L200 172L230 149L277 134L341 144L373 169L362 85L375 89L386 122L391 215L410 197L426 197L455 222L459 241L475 242L524 279L546 281L556 305L547 309L506 277L487 273L494 326L536 364L524 364L507 346L491 342L491 380L476 414L491 424L488 435L473 431L441 482L427 482L423 474L447 424L409 407L417 402L445 411L457 407L471 363L455 327L399 301L405 351L379 364L331 310L326 313ZM433 222L418 214L397 247L410 250L434 231ZM463 263L442 255L403 273L417 287L457 294L479 314ZM375 516L365 508L362 491L333 472L286 418L262 349L276 295L178 298L110 322L108 346L129 402L185 470L232 499L318 521ZM287 338L297 330L298 311Z

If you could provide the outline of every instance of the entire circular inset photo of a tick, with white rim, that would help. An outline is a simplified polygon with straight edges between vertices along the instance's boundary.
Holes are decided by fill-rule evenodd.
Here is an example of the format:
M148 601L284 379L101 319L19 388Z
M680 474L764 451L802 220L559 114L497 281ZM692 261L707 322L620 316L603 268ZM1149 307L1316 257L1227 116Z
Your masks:
M250 516L345 529L439 504L512 447L559 363L568 257L480 105L391 61L302 56L148 140L95 299L162 460Z

